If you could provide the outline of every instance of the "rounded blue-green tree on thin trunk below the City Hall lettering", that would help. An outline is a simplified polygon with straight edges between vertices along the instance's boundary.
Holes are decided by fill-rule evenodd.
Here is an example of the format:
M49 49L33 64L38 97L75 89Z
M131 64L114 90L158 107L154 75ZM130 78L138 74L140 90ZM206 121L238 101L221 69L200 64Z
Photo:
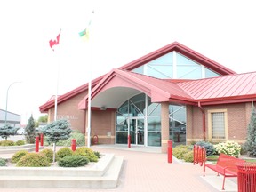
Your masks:
M44 133L47 142L53 143L53 162L55 162L56 142L60 140L67 140L72 132L70 124L66 119L60 119L53 121L51 124L47 124L41 129Z

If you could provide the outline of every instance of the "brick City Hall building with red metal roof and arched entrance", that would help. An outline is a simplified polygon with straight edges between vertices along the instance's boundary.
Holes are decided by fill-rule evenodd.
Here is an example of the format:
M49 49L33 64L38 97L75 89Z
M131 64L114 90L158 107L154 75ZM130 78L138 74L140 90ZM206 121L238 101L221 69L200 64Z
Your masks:
M88 84L58 98L57 118L85 133ZM256 72L236 74L174 42L92 81L91 138L162 148L167 141L245 141ZM54 100L39 107L54 116ZM87 140L87 134L85 134Z

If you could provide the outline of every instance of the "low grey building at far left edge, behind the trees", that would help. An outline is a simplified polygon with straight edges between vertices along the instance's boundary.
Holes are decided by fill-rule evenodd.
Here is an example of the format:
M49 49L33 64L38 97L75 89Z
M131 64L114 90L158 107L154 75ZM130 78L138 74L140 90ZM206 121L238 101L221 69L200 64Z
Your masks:
M20 115L0 109L0 127L3 127L6 123L11 124L12 127L20 128L20 119Z

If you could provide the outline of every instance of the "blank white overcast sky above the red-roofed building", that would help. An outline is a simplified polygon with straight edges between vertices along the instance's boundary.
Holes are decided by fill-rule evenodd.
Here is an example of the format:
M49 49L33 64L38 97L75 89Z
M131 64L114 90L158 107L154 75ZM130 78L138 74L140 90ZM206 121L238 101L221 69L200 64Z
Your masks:
M92 10L89 46L78 33ZM174 41L237 73L256 71L253 0L3 0L0 18L0 108L10 84L21 82L10 87L7 109L22 124L42 116L38 108L56 93L57 71L64 94L87 83L90 71L101 76ZM60 28L52 52L49 40Z

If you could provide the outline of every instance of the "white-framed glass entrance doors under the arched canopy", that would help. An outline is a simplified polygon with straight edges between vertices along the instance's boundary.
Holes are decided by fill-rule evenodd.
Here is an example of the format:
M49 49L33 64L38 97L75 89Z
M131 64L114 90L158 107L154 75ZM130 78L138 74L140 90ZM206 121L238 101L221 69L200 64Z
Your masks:
M144 145L144 118L132 118L129 123L131 144Z

